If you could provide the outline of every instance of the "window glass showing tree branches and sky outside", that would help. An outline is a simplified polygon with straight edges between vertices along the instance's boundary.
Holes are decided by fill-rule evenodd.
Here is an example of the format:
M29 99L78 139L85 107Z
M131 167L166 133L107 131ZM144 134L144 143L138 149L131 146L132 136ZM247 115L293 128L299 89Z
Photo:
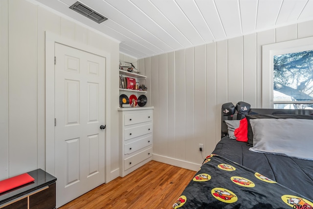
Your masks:
M274 55L275 109L313 109L313 50Z

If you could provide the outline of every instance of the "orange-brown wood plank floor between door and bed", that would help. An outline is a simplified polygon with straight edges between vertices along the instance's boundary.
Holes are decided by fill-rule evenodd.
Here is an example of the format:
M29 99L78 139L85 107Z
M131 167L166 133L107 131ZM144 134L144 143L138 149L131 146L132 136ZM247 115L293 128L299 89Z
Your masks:
M151 161L59 209L171 209L195 171Z

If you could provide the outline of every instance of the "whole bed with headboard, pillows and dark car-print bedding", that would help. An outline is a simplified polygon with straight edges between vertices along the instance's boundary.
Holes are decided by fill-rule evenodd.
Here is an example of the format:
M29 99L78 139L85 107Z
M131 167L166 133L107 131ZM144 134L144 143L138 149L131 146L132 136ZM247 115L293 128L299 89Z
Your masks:
M313 110L225 103L221 130L174 209L313 209Z

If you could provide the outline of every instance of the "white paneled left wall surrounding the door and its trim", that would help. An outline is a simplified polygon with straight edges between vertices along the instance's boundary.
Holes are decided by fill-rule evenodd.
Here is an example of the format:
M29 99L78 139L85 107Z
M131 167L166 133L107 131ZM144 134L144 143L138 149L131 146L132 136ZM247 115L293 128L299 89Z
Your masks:
M119 43L27 0L0 0L0 180L45 170L45 31L111 55L110 181L119 174L114 172L119 169Z

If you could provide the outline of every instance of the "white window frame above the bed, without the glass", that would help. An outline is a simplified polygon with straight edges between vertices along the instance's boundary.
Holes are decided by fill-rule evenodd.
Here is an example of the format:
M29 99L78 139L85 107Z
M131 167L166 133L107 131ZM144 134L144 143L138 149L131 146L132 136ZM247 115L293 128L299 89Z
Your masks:
M313 50L313 37L262 46L262 108L274 104L311 104L312 101L273 101L273 60L275 55Z

